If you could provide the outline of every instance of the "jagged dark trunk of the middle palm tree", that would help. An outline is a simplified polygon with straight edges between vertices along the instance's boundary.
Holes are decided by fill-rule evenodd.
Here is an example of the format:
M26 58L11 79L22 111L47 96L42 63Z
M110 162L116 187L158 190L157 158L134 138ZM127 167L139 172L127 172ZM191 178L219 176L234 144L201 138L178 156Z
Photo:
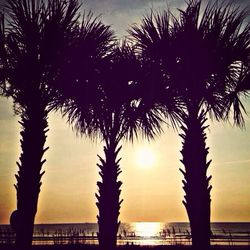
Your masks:
M100 176L102 182L97 182L99 195L97 197L97 207L99 215L97 216L99 225L99 247L104 250L113 250L116 247L117 232L120 225L118 222L119 210L122 200L120 201L121 181L117 181L118 175L121 173L117 155L121 147L117 149L118 143L114 140L104 146L105 159L99 159L101 164L97 164L100 168Z

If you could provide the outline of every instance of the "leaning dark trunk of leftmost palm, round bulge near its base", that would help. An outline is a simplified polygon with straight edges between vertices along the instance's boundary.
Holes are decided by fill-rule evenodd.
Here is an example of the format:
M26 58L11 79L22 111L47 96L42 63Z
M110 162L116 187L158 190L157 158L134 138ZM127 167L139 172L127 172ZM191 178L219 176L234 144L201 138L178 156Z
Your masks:
M17 162L19 171L16 174L17 210L11 218L11 224L16 231L16 245L18 249L30 249L37 202L41 186L40 172L46 132L48 131L47 111L39 105L31 105L21 116L21 149L22 153Z

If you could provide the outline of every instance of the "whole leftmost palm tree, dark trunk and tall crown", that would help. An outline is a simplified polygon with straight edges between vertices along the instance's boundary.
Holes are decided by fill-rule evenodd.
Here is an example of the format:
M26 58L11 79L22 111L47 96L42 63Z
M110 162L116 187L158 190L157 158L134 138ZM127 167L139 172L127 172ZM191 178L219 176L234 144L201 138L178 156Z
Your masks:
M76 1L8 0L5 66L8 95L21 117L21 150L16 174L17 210L11 224L16 244L30 249L41 187L43 155L50 103L56 98L52 82L60 73L63 48L77 22Z

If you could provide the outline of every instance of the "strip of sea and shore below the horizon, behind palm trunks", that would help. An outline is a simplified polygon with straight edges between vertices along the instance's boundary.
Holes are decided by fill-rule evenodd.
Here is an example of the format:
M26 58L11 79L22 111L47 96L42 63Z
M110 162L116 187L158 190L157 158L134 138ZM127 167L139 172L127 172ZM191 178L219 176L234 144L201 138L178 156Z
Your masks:
M211 249L250 249L250 223L211 223ZM97 223L37 224L33 248L98 249ZM0 225L0 249L14 249L15 233ZM117 249L190 249L189 223L122 223Z

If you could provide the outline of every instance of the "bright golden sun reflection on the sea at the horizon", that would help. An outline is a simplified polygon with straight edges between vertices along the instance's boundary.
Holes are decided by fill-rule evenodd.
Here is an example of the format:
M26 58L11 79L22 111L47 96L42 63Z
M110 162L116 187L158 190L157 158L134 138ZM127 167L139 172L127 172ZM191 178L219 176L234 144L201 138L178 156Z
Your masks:
M135 222L132 224L136 236L139 237L154 237L159 236L159 233L164 228L164 223L160 222Z

